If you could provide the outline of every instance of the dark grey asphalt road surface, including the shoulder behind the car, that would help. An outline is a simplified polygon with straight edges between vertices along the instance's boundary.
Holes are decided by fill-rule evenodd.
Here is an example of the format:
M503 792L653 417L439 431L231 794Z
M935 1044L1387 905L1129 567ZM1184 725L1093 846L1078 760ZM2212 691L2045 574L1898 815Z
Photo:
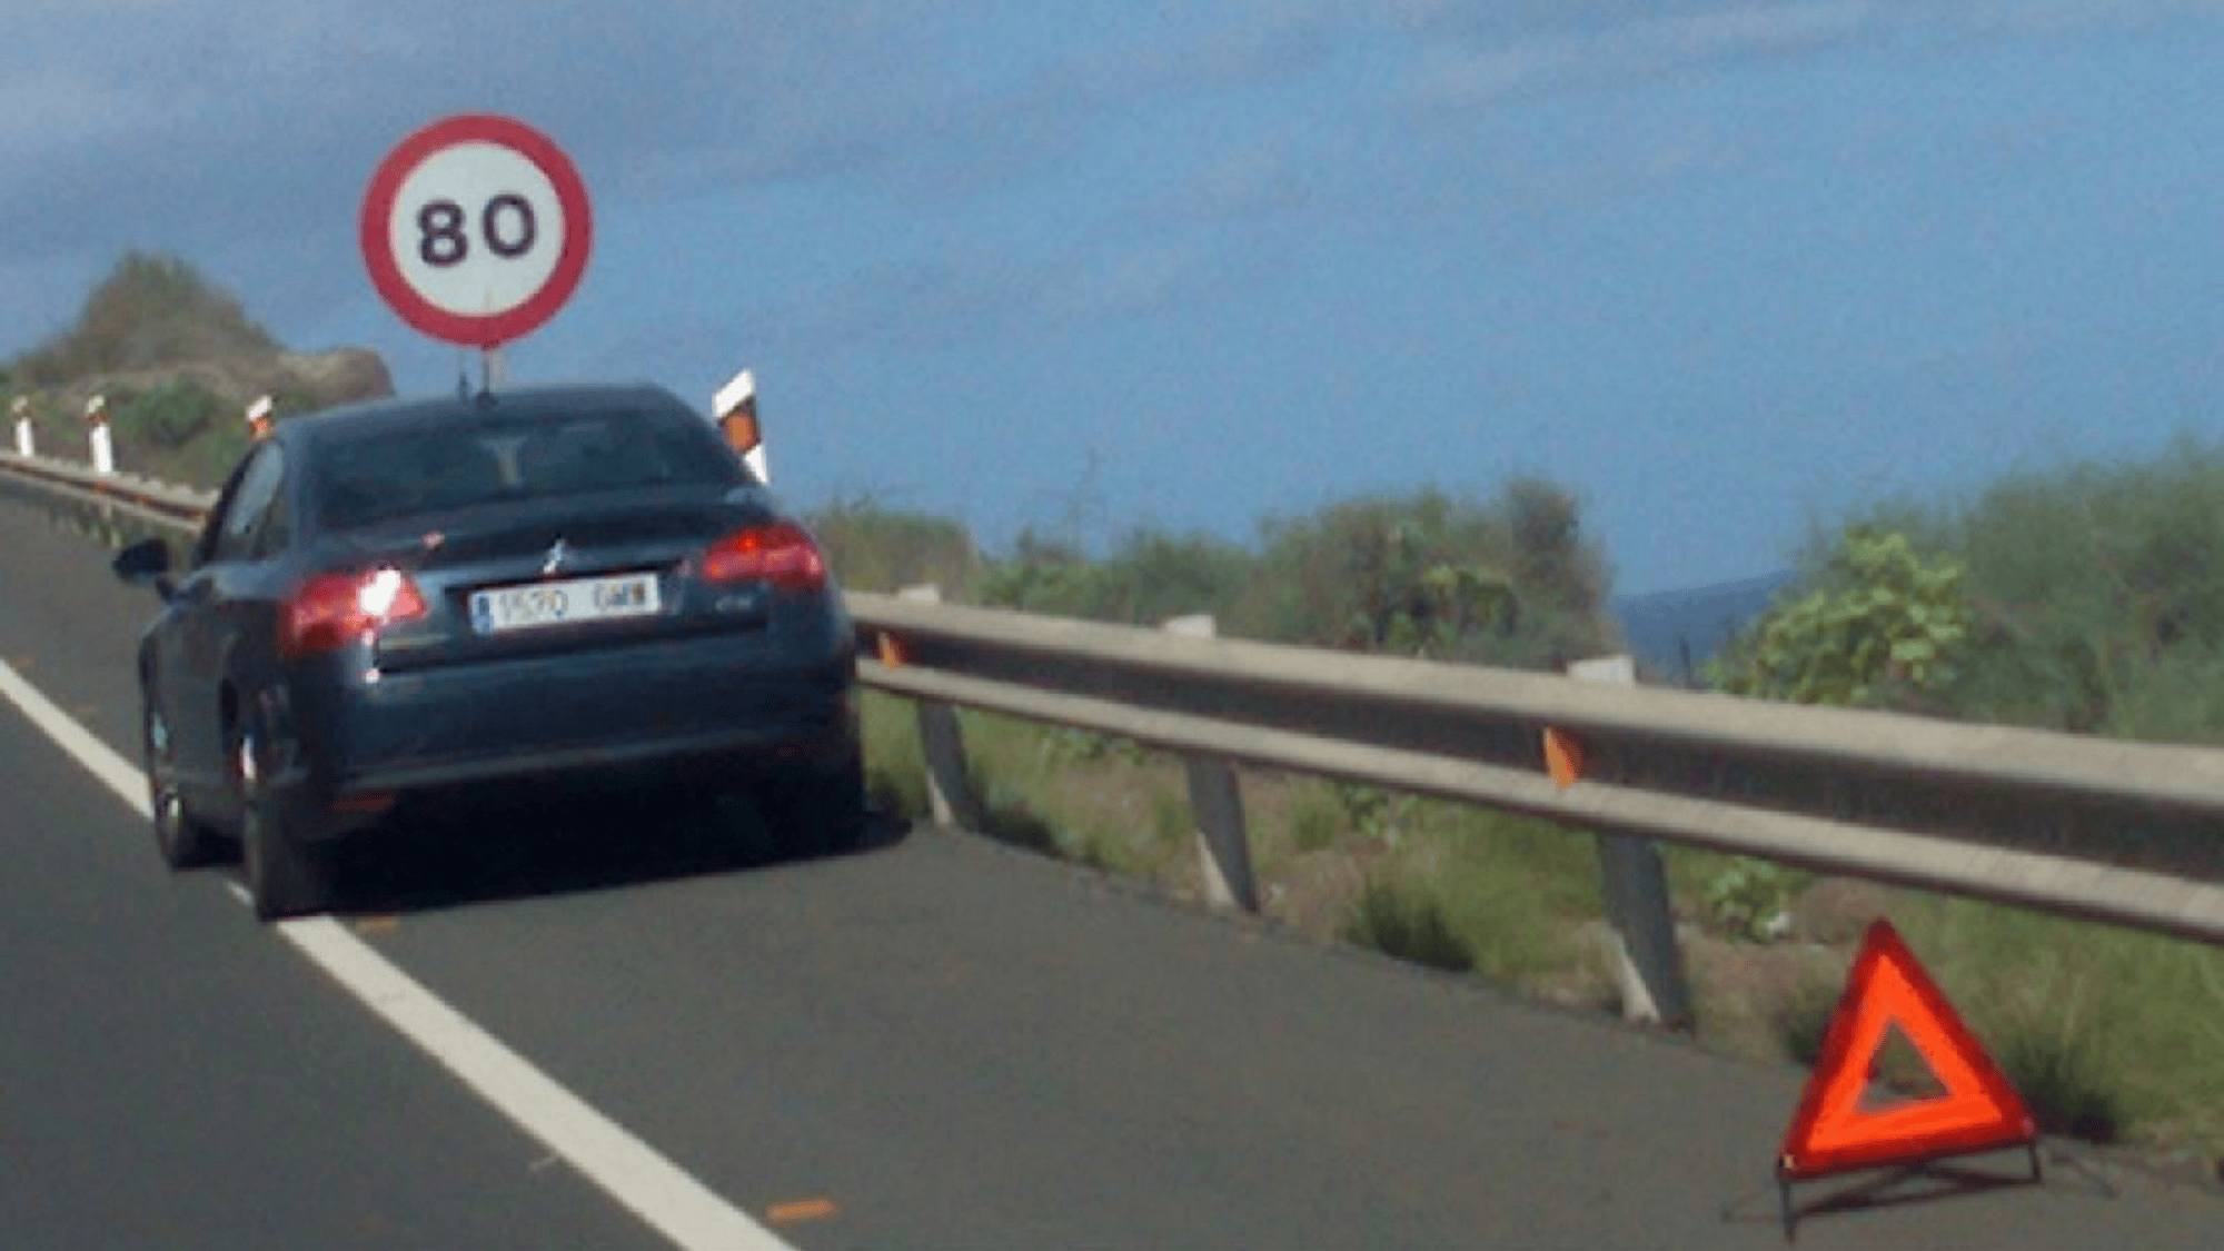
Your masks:
M0 501L0 659L127 757L149 610ZM4 703L0 855L0 1242L661 1244ZM1799 1071L967 835L458 824L354 857L340 922L794 1247L1781 1247ZM2224 1198L2075 1153L1913 1193L1799 1244L2224 1244Z

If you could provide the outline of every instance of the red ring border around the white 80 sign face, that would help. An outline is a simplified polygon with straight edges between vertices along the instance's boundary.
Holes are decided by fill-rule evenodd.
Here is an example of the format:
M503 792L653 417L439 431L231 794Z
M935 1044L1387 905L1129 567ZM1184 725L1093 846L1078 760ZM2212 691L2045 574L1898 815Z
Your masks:
M547 174L549 185L556 187L556 203L563 205L565 216L563 252L556 256L556 269L547 283L518 307L494 316L451 314L420 296L403 278L400 265L394 263L387 236L394 200L400 196L409 174L431 154L463 142L492 142L532 160ZM572 289L578 287L580 276L587 272L587 249L594 243L594 214L587 207L587 185L580 183L572 158L552 138L516 118L463 114L416 131L378 162L371 185L363 191L363 218L356 223L356 236L363 245L363 265L371 272L371 285L378 287L378 294L403 321L443 343L494 349L503 343L525 338L556 316L556 309L572 298Z

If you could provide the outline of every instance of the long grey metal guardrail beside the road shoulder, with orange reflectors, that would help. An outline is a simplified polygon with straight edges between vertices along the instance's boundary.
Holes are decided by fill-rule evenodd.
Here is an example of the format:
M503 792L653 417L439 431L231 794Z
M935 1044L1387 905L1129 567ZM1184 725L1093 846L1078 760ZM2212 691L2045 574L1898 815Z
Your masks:
M0 454L165 528L200 492ZM2224 944L2224 750L1621 688L850 592L861 677L921 701ZM883 639L887 646L883 648ZM921 717L963 817L954 721ZM1586 775L1543 770L1546 728ZM952 766L954 761L954 766ZM1241 819L1241 817L1237 817ZM1612 893L1612 890L1610 890Z

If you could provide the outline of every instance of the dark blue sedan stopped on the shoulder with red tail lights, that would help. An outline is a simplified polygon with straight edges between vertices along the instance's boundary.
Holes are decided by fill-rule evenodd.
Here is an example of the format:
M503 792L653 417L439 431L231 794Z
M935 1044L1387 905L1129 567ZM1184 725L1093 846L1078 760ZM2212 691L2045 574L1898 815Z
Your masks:
M796 853L863 835L856 643L818 545L661 387L538 387L280 423L187 568L116 556L153 830L234 839L256 913L334 902L334 844L420 801L749 790Z

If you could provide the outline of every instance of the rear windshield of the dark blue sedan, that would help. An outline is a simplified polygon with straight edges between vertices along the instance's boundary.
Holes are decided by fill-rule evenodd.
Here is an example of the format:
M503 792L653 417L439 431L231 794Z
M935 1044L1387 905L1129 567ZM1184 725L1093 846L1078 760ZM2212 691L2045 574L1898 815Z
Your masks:
M354 530L512 499L729 485L743 470L689 412L596 407L322 434L314 481L318 521Z

